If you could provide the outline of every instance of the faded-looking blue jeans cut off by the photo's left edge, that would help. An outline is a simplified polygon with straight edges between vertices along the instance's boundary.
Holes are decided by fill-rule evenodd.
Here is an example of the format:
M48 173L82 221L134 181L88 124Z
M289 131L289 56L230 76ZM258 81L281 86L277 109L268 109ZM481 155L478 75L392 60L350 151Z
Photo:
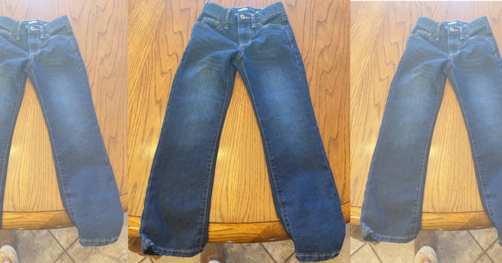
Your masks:
M67 17L51 22L0 16L0 196L27 77L47 124L61 198L84 246L117 240L122 207ZM0 211L3 200L0 199Z

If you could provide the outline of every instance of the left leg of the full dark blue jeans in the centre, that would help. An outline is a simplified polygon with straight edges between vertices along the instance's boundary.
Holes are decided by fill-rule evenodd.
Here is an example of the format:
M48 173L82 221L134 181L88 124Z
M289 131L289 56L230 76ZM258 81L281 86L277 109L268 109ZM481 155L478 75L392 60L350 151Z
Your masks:
M237 51L209 27L194 26L152 164L140 228L145 254L194 256L207 242L219 138L236 74L231 59Z

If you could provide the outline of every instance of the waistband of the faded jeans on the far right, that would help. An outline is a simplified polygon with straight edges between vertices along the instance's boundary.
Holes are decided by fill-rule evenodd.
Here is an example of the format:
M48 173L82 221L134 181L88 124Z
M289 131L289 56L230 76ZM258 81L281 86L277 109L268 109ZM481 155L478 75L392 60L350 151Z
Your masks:
M436 22L430 18L420 17L417 22L417 26L441 36L462 35L489 25L486 17L480 17L471 22L458 20Z

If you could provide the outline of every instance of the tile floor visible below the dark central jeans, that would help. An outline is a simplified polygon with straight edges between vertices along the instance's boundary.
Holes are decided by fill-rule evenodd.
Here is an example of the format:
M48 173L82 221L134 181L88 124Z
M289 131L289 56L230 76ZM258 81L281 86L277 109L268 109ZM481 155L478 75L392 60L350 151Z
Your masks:
M336 258L324 261L326 263L344 263L349 260L349 224L345 225L346 235L343 248ZM296 263L293 242L291 240L249 243L249 244L223 244L225 252L225 263ZM162 256L160 259L143 257L136 253L129 252L129 262L131 263L199 263L200 256L194 257L171 257Z

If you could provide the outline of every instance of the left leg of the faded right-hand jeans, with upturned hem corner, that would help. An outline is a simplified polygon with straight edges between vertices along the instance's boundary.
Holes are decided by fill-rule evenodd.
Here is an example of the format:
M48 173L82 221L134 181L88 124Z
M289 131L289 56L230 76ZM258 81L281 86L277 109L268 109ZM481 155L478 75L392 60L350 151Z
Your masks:
M449 61L443 43L408 39L369 168L361 209L364 240L405 243L420 231L427 160Z

